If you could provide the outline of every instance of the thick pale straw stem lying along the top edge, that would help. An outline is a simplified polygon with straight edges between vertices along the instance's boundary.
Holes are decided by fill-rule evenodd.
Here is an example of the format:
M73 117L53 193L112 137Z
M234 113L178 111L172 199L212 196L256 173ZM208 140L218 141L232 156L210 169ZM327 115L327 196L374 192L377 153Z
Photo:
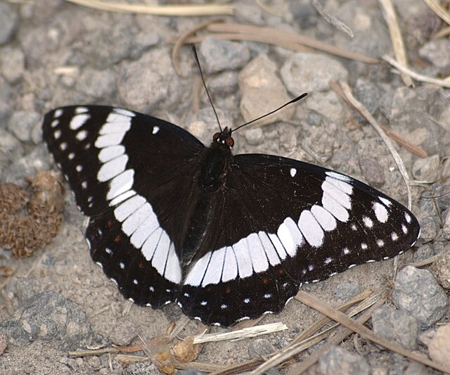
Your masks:
M100 0L65 0L70 3L98 9L100 11L120 13L141 13L151 15L166 15L169 17L191 17L201 15L227 15L233 14L234 8L229 5L203 4L203 5L141 5L126 3L110 3Z

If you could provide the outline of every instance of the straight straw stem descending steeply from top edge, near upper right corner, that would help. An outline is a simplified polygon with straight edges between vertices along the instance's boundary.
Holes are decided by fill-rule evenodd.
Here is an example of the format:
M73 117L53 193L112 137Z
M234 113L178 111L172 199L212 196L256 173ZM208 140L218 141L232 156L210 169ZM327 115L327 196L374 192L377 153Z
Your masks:
M397 15L395 14L394 5L391 0L378 0L378 2L380 3L381 10L383 11L383 15L389 29L395 58L401 65L407 67L408 59L406 57L406 49L403 42L403 37L401 36L399 21L397 20ZM411 76L404 72L401 72L401 80L403 80L407 87L413 86Z

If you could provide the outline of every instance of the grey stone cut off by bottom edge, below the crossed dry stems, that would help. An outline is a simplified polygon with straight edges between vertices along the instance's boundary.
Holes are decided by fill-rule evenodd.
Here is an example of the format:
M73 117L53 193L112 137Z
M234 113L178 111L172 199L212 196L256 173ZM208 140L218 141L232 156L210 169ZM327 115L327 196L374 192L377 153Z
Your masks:
M323 375L368 375L370 367L366 358L338 346L333 346L319 359L319 369Z

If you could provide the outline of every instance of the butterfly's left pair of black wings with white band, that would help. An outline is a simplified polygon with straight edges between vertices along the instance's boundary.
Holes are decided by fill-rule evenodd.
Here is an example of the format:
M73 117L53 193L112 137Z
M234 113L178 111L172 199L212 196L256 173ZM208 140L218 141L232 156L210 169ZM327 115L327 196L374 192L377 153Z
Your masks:
M205 146L169 122L106 106L52 110L43 132L89 216L92 258L134 302L174 300L190 176Z

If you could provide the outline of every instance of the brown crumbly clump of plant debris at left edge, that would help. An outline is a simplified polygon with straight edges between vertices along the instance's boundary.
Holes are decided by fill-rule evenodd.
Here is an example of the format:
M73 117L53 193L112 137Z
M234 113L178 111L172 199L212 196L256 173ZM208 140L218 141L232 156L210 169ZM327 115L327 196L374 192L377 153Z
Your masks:
M63 222L64 189L61 176L38 172L30 179L30 193L16 184L0 184L0 246L26 258L43 248Z

